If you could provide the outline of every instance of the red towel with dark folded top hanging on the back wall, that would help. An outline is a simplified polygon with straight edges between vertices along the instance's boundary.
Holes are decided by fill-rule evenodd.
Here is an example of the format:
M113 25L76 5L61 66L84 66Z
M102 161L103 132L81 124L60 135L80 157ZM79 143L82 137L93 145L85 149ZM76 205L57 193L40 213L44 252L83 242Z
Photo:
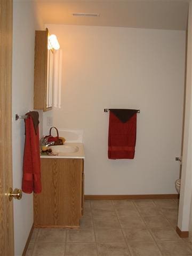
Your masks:
M121 110L110 110L109 112L109 135L108 135L108 158L109 159L133 159L136 143L136 129L137 129L137 110L133 110L129 115L121 118ZM126 114L126 113L125 113ZM118 116L118 117L117 117ZM128 120L127 120L128 119ZM127 121L126 121L127 120Z

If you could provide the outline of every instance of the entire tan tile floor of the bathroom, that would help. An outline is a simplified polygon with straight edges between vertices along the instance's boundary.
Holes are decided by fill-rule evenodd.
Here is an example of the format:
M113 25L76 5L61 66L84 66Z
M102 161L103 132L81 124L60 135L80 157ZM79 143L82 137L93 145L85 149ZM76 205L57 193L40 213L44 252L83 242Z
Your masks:
M26 256L188 256L178 200L86 200L78 230L35 229Z

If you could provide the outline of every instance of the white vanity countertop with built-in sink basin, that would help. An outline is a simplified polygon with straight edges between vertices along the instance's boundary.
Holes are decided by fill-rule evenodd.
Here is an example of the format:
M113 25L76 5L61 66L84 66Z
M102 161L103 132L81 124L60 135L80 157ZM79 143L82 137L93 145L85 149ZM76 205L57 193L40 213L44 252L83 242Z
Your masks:
M64 143L60 146L49 146L49 149L57 152L57 156L48 156L47 154L40 154L40 158L85 158L83 143ZM67 152L67 151L75 152ZM66 151L66 152L65 152Z

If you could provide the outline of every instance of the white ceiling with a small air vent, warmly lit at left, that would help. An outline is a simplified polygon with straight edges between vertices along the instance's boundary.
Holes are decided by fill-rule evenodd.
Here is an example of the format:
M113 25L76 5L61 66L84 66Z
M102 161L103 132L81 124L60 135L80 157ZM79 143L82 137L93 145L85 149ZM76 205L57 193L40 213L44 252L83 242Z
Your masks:
M36 0L44 24L113 26L186 30L188 2L151 1L46 1ZM73 17L72 13L100 13L100 17Z

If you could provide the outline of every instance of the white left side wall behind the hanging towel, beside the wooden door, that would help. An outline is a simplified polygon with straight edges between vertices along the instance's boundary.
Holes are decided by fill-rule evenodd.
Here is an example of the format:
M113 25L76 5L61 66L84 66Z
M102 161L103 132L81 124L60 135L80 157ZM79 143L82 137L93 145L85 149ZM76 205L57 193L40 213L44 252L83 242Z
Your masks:
M15 114L23 115L33 110L35 29L43 29L35 13L33 2L13 1L13 188L21 188L25 142L24 121L15 121ZM40 114L42 117L42 113ZM17 256L22 254L33 224L33 195L23 193L20 201L14 200L13 207L14 244Z

